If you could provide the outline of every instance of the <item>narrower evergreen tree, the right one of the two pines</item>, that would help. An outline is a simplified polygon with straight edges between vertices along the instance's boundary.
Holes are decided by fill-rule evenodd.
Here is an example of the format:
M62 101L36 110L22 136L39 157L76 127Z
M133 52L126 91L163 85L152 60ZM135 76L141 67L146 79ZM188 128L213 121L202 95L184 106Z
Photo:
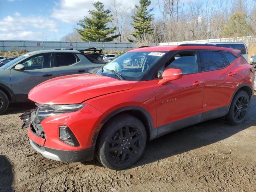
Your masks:
M153 29L151 22L153 20L153 14L150 12L153 9L147 10L148 6L150 6L151 0L140 0L140 6L136 5L137 9L135 14L132 16L133 19L133 27L135 32L132 36L136 38L142 38L145 35L152 34ZM130 42L134 42L134 40L128 39Z

